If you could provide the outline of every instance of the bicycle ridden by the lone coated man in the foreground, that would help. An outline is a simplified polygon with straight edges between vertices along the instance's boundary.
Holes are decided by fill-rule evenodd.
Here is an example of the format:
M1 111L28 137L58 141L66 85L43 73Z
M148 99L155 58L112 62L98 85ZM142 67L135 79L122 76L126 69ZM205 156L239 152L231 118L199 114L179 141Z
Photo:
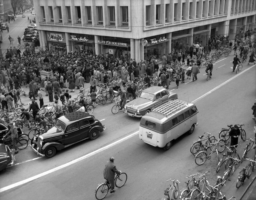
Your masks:
M123 185L126 183L127 180L127 174L121 173L120 175L115 175L115 186L116 187L123 187ZM108 194L111 186L110 183L106 180L104 183L99 184L97 189L95 190L95 197L96 199L104 199L106 195Z

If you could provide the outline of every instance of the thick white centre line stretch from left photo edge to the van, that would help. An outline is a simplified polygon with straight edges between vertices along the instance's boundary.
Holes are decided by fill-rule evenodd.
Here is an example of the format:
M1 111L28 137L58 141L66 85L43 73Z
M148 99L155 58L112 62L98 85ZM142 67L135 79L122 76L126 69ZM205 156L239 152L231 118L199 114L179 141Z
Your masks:
M117 144L119 144L119 143L121 143L121 142L123 142L123 141L125 141L125 140L127 140L127 139L129 139L129 138L131 138L131 137L133 137L134 135L137 135L138 133L139 133L139 131L136 131L136 132L132 133L131 135L127 135L126 137L124 137L124 138L122 138L122 139L120 139L120 140L117 140L117 141L113 142L112 144L109 144L109 145L104 146L104 147L102 147L102 148L100 148L100 149L97 149L97 150L95 150L95 151L93 151L93 152L91 152L91 153L89 153L89 154L87 154L87 155L84 155L84 156L82 156L82 157L80 157L80 158L77 158L77 159L75 159L75 160L72 160L72 161L70 161L70 162L68 162L68 163L66 163L66 164L60 165L60 166L58 166L58 167L55 167L55 168L53 168L53 169L50 169L50 170L45 171L45 172L43 172L43 173L40 173L40 174L38 174L38 175L32 176L32 177L27 178L27 179L25 179L25 180L19 181L19 182L17 182L17 183L14 183L14 184L7 185L7 186L5 186L5 187L2 187L2 188L0 188L0 193L1 193L1 192L4 192L4 191L6 191L6 190L12 189L12 188L14 188L14 187L17 187L17 186L26 184L26 183L31 182L31 181L33 181L33 180L36 180L36 179L38 179L38 178L40 178L40 177L42 177L42 176L48 175L48 174L50 174L50 173L52 173L52 172L58 171L58 170L60 170L60 169L62 169L62 168L65 168L65 167L67 167L67 166L69 166L69 165L75 164L75 163L77 163L77 162L79 162L79 161L81 161L81 160L84 160L84 159L86 159L86 158L89 158L89 157L91 157L92 155L95 155L95 154L97 154L97 153L100 153L101 151L104 151L104 150L106 150L106 149L108 149L108 148L110 148L110 147L112 147L112 146L114 146L114 145L117 145Z

